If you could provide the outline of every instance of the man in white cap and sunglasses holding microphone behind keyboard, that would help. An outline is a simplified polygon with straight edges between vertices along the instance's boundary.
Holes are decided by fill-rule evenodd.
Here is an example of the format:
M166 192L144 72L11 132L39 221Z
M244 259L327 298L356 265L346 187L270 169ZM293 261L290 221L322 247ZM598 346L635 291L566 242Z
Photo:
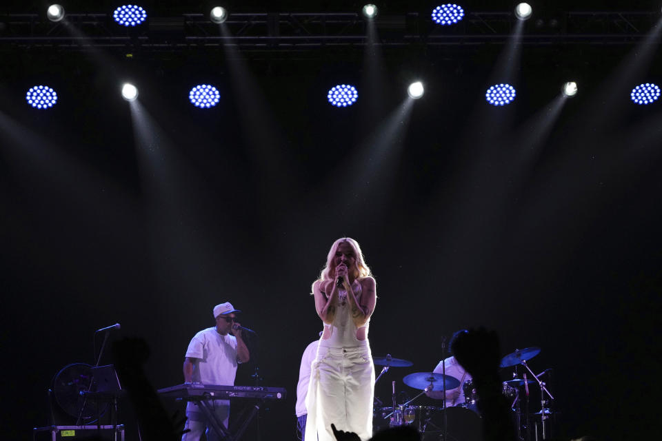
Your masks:
M214 307L216 326L203 329L195 334L188 345L184 359L184 381L203 384L234 385L237 363L248 362L250 353L241 336L241 325L234 320L235 313L230 302ZM232 332L234 335L230 335ZM214 412L225 428L230 420L230 400L214 400ZM195 402L186 404L186 427L182 441L198 441L206 429L207 440L218 440L214 429L210 429L207 419Z

